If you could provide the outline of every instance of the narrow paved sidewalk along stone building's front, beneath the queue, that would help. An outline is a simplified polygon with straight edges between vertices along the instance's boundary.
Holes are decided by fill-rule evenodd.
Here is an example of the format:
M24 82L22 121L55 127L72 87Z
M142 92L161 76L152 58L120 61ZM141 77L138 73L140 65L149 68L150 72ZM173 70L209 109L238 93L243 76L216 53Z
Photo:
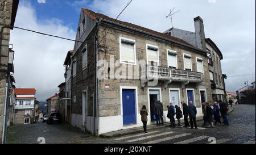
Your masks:
M233 111L232 107L229 107L228 114ZM196 118L196 122L200 122L203 120L203 116L199 116ZM177 123L177 121L175 121ZM184 124L184 120L181 119L181 123ZM165 128L169 127L170 123L169 122L164 122L162 126L156 126L155 124L147 125L147 131L150 131L152 129L159 129L159 128ZM131 135L134 133L141 133L143 132L143 126L141 127L134 127L134 128L129 128L129 129L121 129L118 131L112 131L112 132L107 132L107 133L102 133L100 137L104 138L110 138L110 137L119 137L119 136L124 136L124 135Z

